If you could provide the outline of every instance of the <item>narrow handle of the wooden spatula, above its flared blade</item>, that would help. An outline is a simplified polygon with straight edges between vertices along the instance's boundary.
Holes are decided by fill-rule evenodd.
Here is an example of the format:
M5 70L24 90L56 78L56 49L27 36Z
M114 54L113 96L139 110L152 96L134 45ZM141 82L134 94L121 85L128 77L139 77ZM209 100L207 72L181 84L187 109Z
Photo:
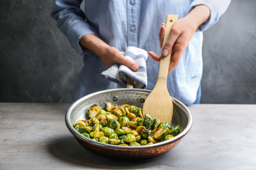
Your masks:
M163 46L170 35L171 27L177 20L178 20L177 15L171 15L171 14L167 15L166 22L165 22L165 35L163 37ZM164 80L164 81L167 80L167 73L169 69L170 59L171 59L171 52L169 53L168 56L161 56L158 80Z

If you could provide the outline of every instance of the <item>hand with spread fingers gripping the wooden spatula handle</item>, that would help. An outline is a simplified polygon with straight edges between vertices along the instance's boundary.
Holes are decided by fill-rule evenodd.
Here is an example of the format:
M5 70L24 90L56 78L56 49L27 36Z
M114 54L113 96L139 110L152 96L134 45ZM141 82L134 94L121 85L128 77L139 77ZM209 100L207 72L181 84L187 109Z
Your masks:
M182 54L186 50L186 47L194 33L198 27L209 18L209 16L210 11L208 7L205 5L197 6L191 10L187 16L177 20L177 22L173 24L170 35L165 44L163 44L165 24L161 25L159 33L160 48L162 49L161 55L167 56L172 52L168 73L170 73L179 64ZM154 52L148 52L148 55L154 59L154 61L160 62L160 56L156 55Z

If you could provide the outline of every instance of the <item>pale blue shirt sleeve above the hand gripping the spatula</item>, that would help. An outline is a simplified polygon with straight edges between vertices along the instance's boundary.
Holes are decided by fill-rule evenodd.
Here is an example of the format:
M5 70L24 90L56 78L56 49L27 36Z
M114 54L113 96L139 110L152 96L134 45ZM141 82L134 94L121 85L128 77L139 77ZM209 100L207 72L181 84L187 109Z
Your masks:
M205 31L211 25L218 22L221 15L224 14L226 9L228 8L228 5L230 4L230 0L195 0L190 5L190 11L194 9L194 7L198 5L205 5L210 9L211 15L210 18L205 21L202 25L199 27L199 31Z

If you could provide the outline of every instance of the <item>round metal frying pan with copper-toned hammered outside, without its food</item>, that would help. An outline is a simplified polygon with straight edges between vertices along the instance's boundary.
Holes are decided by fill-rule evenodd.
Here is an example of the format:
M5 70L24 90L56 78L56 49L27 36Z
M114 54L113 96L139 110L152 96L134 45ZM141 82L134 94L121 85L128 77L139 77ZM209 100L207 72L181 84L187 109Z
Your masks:
M192 127L192 114L190 113L190 110L188 110L181 101L173 97L172 126L176 127L179 125L181 133L173 137L173 139L163 141L161 143L144 146L118 146L105 144L93 141L92 139L81 135L73 127L73 124L77 122L77 120L88 118L87 110L93 104L99 105L102 109L107 101L111 101L116 106L129 104L137 107L143 107L143 103L150 92L150 90L142 89L117 88L114 90L103 90L86 95L72 103L66 111L66 126L79 144L99 156L117 160L145 160L163 155L177 146Z

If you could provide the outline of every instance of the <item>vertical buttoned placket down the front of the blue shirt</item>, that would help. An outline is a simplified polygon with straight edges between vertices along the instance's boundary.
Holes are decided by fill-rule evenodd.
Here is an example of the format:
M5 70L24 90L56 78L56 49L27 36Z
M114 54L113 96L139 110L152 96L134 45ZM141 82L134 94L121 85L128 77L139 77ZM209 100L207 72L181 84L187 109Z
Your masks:
M136 0L127 0L127 31L128 46L138 46Z

